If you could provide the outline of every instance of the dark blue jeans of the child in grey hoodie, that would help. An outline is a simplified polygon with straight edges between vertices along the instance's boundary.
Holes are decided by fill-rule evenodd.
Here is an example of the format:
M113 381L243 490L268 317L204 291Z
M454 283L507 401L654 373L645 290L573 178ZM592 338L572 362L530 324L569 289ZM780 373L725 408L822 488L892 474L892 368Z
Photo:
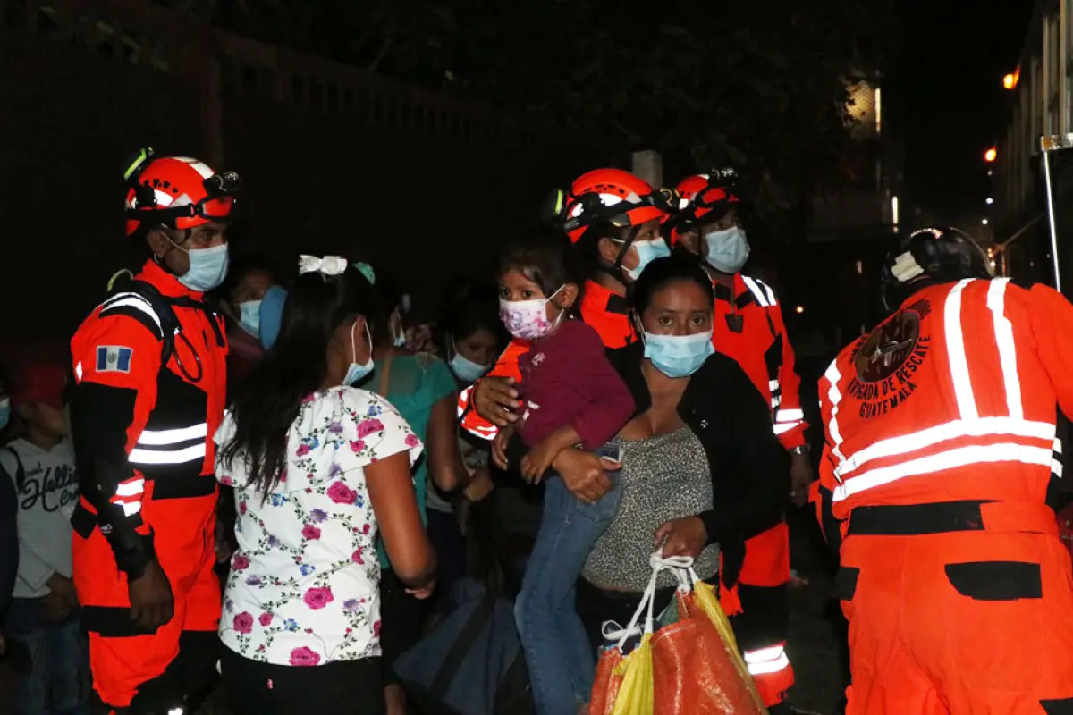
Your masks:
M78 615L47 621L43 608L43 598L13 598L4 621L15 713L89 715L89 646Z

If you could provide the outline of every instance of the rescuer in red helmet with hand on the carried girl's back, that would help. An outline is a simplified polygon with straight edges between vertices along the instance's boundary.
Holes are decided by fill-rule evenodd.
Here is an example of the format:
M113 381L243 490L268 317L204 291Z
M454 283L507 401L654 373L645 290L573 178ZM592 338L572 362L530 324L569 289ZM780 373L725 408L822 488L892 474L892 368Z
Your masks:
M660 225L673 204L672 192L653 191L629 172L603 168L582 175L569 191L555 192L544 207L544 218L563 227L589 269L579 311L605 347L623 347L636 338L627 285L652 259L670 255ZM527 341L511 341L491 371L459 394L466 430L491 440L499 427L517 419L518 396L511 385L521 378L518 358L527 352Z

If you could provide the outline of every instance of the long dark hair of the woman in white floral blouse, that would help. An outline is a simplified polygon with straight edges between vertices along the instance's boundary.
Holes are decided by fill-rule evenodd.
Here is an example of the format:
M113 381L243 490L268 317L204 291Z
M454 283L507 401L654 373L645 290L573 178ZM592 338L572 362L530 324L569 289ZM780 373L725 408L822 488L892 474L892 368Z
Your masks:
M333 334L358 315L371 322L377 312L372 285L353 267L340 275L313 271L298 277L283 308L279 339L232 401L235 436L220 452L225 466L245 459L248 483L265 495L275 489L286 467L286 438L302 401L324 383Z

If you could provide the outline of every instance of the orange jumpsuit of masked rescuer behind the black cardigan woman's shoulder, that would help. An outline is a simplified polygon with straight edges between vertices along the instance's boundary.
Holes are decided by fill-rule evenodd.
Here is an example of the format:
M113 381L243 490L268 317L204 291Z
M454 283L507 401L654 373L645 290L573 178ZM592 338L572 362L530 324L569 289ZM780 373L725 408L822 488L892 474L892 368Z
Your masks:
M711 341L734 358L771 407L775 434L790 450L805 444L808 423L802 412L800 378L775 292L762 281L734 275L733 291L716 284ZM723 604L745 652L765 705L785 699L794 671L785 653L789 629L787 583L790 580L790 532L778 523L746 541L745 562L735 581L722 571ZM734 595L737 595L737 599Z

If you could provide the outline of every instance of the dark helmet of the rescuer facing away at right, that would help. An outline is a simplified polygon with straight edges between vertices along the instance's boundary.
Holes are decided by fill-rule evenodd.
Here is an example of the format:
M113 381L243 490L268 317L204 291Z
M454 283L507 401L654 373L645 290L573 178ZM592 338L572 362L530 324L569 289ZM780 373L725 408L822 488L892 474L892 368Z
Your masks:
M987 254L969 236L957 228L922 228L883 262L880 297L894 311L926 285L993 277Z

